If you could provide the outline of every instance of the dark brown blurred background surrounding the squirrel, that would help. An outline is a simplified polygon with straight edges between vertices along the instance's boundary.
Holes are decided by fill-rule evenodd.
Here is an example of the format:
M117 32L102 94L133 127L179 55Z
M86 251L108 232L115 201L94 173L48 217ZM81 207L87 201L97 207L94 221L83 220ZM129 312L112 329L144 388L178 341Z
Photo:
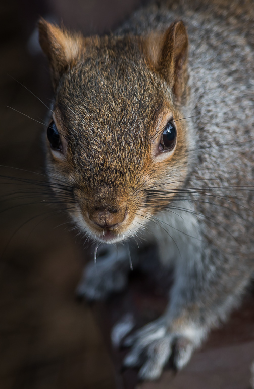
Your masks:
M34 95L46 105L52 97L47 62L37 44L38 18L63 22L84 34L104 33L143 3L5 0L0 4L0 389L134 388L136 373L121 380L120 354L110 347L112 318L119 317L114 312L133 303L149 321L165 306L160 294L149 296L143 279L132 281L134 291L124 297L124 304L119 298L95 307L79 304L75 287L90 249L69 231L71 225L58 208L42 201L38 189L43 195L44 176L31 173L44 173L43 126L38 122L47 113ZM214 331L170 387L247 389L254 359L253 324L249 292L242 309L223 329ZM159 383L142 387L168 388L171 379L166 372Z

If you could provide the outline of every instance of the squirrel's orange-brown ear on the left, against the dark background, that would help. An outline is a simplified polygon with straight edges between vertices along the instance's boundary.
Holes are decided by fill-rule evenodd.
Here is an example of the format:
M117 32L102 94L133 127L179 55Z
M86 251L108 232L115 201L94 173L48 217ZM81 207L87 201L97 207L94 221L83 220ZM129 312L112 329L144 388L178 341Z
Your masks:
M61 75L75 64L83 45L79 34L72 35L44 19L38 22L39 43L46 54L52 70L54 88Z

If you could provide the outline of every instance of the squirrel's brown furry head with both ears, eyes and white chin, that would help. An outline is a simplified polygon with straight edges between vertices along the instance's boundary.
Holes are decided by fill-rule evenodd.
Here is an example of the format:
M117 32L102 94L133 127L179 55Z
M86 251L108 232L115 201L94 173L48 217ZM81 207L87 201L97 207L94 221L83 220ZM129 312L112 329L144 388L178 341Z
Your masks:
M41 20L39 34L55 90L47 130L52 187L93 238L133 236L188 172L185 27L83 38Z

